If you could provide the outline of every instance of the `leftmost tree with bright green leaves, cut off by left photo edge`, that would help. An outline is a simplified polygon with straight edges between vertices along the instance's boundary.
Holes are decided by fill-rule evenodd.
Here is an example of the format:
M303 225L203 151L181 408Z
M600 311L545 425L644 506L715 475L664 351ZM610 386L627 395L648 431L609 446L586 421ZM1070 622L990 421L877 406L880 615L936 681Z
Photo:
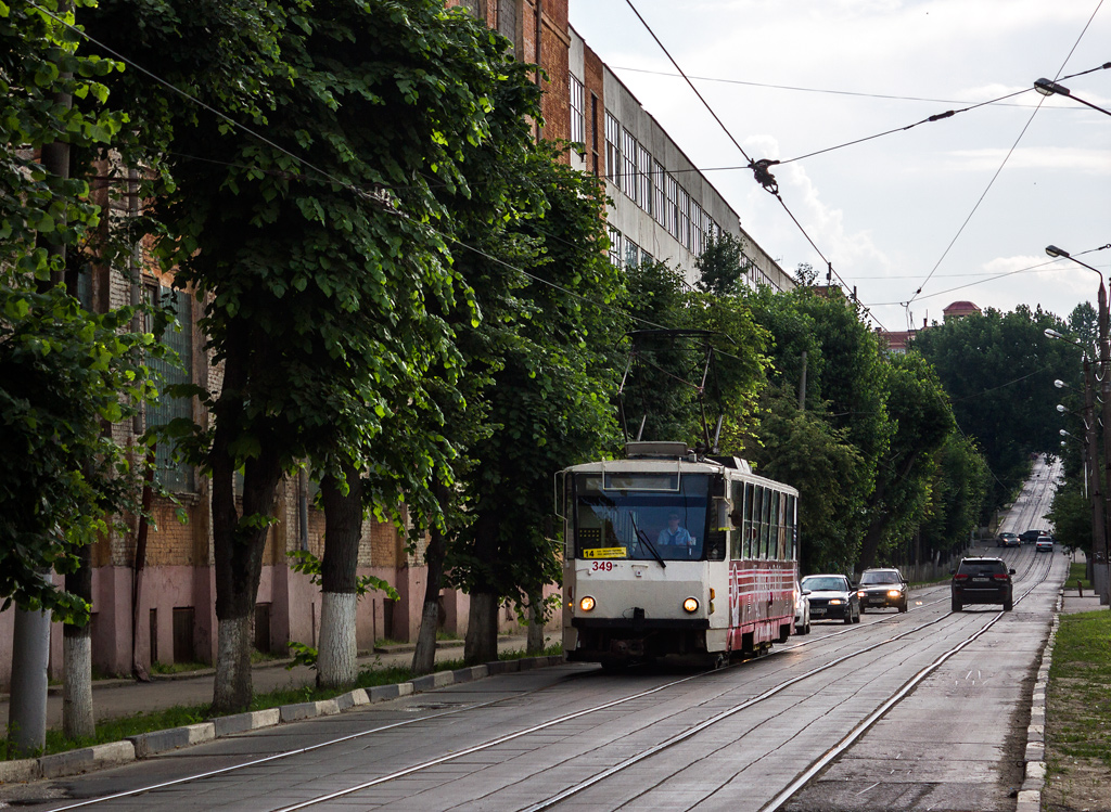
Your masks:
M120 511L139 512L132 465L106 428L156 394L143 357L157 350L131 331L133 311L93 314L60 287L76 287L98 248L107 258L93 172L74 152L114 143L126 121L100 81L121 66L79 50L63 24L86 4L0 6L0 594L24 610L9 724L20 751L43 743L46 612L66 622L67 732L93 732L87 545ZM67 574L66 591L51 572Z

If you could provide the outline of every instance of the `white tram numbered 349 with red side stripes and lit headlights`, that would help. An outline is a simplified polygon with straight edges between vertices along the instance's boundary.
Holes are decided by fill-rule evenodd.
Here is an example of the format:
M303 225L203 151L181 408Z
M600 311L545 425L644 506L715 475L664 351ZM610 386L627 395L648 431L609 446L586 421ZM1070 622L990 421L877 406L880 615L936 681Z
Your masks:
M631 442L560 480L568 660L721 664L792 633L793 488L681 442Z

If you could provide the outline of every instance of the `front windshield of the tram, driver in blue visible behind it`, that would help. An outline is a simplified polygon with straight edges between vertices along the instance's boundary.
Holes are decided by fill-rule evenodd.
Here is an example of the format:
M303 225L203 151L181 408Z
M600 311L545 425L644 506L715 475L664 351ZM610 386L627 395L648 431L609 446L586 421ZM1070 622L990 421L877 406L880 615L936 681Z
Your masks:
M575 558L702 559L709 495L705 474L580 474Z

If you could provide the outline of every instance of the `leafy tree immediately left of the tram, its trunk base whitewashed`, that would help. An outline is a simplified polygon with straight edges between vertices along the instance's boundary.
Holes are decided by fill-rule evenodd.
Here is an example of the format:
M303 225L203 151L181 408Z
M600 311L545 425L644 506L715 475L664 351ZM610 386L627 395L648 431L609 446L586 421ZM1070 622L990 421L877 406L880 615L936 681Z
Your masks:
M599 183L557 162L561 149L539 144L523 156L534 213L509 227L517 240L507 245L528 275L504 269L508 291L476 287L490 328L474 338L486 345L476 363L492 379L491 431L470 448L464 495L473 522L448 559L452 582L470 593L468 662L497 658L503 600L536 607L560 578L559 540L544 532L552 474L615 440L610 353L625 323L615 307L622 285L602 253Z

